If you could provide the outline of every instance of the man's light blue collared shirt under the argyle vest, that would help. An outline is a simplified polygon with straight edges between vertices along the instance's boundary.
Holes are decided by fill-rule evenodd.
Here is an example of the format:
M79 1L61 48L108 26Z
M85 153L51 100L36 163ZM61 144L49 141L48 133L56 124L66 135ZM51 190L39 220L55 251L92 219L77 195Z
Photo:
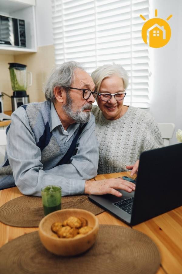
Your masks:
M98 167L98 141L94 133L93 114L78 138L77 154L71 157L70 163L49 170L43 170L41 152L36 145L25 109L19 107L12 113L11 119L7 133L7 155L19 190L25 195L41 196L42 187L56 184L61 186L62 196L83 194L85 180L95 177ZM64 144L80 125L74 123L64 130L53 104L49 121L50 131L59 131Z

